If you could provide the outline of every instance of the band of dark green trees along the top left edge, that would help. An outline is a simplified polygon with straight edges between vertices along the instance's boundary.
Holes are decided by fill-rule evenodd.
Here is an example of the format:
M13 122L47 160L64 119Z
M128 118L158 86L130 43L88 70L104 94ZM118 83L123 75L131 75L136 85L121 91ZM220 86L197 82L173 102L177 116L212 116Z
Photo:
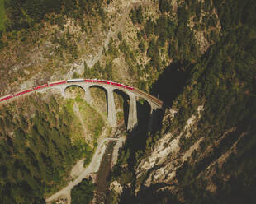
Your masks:
M47 14L60 13L75 19L82 19L83 14L93 14L100 12L104 18L104 12L101 9L102 0L5 0L5 8L7 11L6 30L21 30L35 26L36 22L40 22L47 18ZM63 17L55 18L53 23L63 26ZM84 29L84 24L81 22Z

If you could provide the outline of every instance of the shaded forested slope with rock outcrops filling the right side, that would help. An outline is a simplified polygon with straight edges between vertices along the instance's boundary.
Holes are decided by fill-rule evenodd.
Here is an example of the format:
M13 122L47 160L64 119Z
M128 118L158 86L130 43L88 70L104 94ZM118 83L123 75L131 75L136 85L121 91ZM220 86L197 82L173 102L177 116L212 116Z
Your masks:
M254 203L255 3L210 6L221 38L196 63L171 63L159 76L154 91L169 107L162 130L145 149L126 145L110 178L122 193L111 188L107 202Z

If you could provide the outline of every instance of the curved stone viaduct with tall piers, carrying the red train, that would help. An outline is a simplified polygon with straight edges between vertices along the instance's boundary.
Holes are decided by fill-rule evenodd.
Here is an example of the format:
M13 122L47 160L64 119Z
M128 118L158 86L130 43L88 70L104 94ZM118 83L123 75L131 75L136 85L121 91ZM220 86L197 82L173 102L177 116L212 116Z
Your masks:
M126 95L129 96L130 104L129 104L129 115L128 115L128 124L127 129L132 130L135 125L138 123L137 119L137 107L136 107L136 100L138 97L145 99L150 105L150 120L149 120L149 128L151 127L151 121L153 120L153 112L155 109L162 109L163 102L153 95L149 95L141 90L138 90L134 87L126 86L121 83L116 83L113 81L104 81L104 80L97 80L97 79L72 79L67 81L53 81L48 82L44 85L35 86L27 90L21 90L17 93L13 93L11 95L6 95L0 99L0 103L6 100L11 100L12 98L19 97L21 95L29 94L33 91L37 92L44 92L45 90L49 89L58 89L65 97L65 90L69 86L79 86L84 90L85 93L85 100L88 104L92 104L92 97L90 94L89 88L92 86L97 86L102 88L107 93L107 119L108 123L111 127L116 126L116 107L114 101L114 90L121 90Z

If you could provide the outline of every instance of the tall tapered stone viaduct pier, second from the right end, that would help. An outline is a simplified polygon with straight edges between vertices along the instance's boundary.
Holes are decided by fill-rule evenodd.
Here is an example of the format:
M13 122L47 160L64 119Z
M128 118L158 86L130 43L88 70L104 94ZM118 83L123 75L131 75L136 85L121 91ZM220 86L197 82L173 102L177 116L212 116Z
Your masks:
M138 123L137 104L136 104L136 96L133 94L128 94L128 95L130 97L130 104L129 104L127 130L131 131L135 127L135 125Z

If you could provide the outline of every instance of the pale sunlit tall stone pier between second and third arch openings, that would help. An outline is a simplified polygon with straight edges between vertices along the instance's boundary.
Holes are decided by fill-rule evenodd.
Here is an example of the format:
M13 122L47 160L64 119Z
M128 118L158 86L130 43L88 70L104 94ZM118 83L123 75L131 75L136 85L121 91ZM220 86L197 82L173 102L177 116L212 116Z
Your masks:
M111 127L116 126L116 106L112 89L107 88L107 120Z

